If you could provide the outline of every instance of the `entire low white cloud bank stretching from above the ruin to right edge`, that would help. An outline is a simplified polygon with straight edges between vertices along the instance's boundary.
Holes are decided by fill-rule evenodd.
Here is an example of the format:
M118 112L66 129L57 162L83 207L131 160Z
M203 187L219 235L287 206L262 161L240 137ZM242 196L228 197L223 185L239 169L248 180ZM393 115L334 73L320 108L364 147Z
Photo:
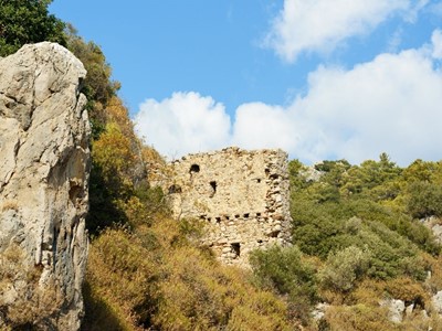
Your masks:
M442 32L432 44L380 54L351 70L320 66L307 94L288 106L243 104L230 119L221 104L196 93L147 100L137 129L162 153L181 156L230 145L283 148L306 162L347 159L359 163L381 152L407 166L442 156Z

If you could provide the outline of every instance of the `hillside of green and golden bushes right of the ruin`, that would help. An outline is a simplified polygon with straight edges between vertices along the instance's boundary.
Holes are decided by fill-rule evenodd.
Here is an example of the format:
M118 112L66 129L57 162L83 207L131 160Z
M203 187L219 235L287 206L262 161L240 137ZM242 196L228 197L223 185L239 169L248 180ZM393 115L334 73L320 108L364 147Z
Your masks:
M420 310L431 311L430 295L442 286L441 246L417 218L442 215L442 163L418 160L401 169L381 154L360 166L326 161L314 170L295 160L290 172L293 242L319 258L316 295L332 305L315 328L440 328L440 318ZM391 298L414 305L402 324L380 306Z

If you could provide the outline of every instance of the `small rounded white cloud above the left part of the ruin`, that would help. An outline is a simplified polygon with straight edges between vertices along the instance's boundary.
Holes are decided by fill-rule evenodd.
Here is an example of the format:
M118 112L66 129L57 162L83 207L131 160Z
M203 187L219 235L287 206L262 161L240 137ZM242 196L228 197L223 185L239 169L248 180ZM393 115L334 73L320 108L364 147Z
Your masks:
M135 117L137 132L169 158L218 149L229 141L230 117L222 104L198 93L147 99Z

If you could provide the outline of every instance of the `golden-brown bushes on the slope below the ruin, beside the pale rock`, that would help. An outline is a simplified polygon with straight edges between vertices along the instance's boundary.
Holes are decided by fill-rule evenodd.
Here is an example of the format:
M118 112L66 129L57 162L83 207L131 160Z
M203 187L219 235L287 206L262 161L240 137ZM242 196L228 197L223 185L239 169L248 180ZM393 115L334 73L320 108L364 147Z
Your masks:
M191 223L157 218L102 233L90 254L83 329L293 330L283 300L191 244Z

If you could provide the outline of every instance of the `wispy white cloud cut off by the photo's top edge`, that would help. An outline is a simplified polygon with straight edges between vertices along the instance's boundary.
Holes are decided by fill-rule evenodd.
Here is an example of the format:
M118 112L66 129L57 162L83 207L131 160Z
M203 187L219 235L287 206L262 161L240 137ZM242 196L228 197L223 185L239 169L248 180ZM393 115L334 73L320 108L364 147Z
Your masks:
M285 0L264 45L285 61L303 52L327 53L400 13L413 22L428 0Z

